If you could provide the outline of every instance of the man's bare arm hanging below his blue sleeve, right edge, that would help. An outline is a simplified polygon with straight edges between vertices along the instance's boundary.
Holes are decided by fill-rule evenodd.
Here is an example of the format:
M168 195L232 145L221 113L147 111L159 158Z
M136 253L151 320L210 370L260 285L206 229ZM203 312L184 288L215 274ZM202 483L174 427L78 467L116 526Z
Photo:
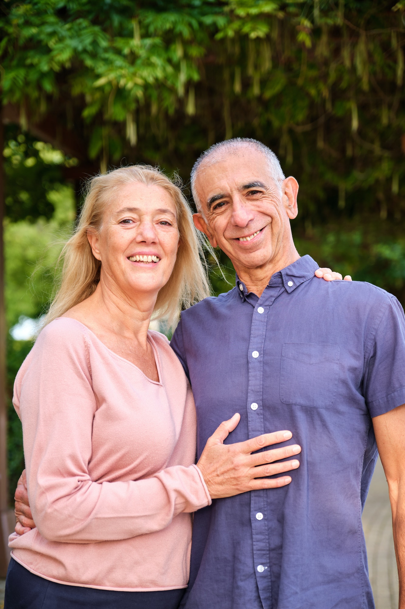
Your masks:
M405 609L405 404L373 418L381 463L388 482L398 578L399 609Z

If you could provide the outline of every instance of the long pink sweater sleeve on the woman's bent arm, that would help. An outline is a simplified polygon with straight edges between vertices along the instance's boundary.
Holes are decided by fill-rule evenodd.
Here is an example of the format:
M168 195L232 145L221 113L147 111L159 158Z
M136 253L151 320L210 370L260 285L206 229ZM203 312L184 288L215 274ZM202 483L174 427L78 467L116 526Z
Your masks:
M86 328L65 319L44 328L16 378L33 519L49 541L121 540L164 529L211 500L195 465L129 482L94 482L88 471L92 390ZM123 433L125 431L123 430Z

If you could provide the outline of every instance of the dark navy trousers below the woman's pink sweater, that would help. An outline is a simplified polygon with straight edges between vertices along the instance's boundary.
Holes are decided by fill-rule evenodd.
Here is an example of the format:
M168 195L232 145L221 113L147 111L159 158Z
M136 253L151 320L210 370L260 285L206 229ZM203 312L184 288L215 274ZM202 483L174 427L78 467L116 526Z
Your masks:
M157 592L116 592L66 586L34 575L10 560L4 609L178 609L184 588Z

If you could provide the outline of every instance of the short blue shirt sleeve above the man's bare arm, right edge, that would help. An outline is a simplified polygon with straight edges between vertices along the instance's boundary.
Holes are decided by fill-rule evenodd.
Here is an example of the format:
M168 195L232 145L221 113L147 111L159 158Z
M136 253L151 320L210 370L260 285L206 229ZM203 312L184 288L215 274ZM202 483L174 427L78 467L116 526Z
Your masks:
M372 417L405 404L405 316L393 296L376 328L363 386Z

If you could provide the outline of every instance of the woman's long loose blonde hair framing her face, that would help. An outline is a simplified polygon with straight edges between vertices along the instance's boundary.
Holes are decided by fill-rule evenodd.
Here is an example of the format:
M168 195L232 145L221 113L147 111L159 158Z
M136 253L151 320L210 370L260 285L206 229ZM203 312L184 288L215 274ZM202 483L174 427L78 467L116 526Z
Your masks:
M63 268L60 286L50 305L44 325L60 317L93 294L100 281L101 262L94 258L87 235L102 229L103 214L112 197L125 184L156 185L170 194L177 210L179 248L170 278L157 295L154 319L176 322L183 308L209 295L209 283L202 266L202 239L194 227L192 212L181 188L160 169L149 165L120 167L88 181L86 199L74 234L61 252ZM207 269L205 269L207 270Z

